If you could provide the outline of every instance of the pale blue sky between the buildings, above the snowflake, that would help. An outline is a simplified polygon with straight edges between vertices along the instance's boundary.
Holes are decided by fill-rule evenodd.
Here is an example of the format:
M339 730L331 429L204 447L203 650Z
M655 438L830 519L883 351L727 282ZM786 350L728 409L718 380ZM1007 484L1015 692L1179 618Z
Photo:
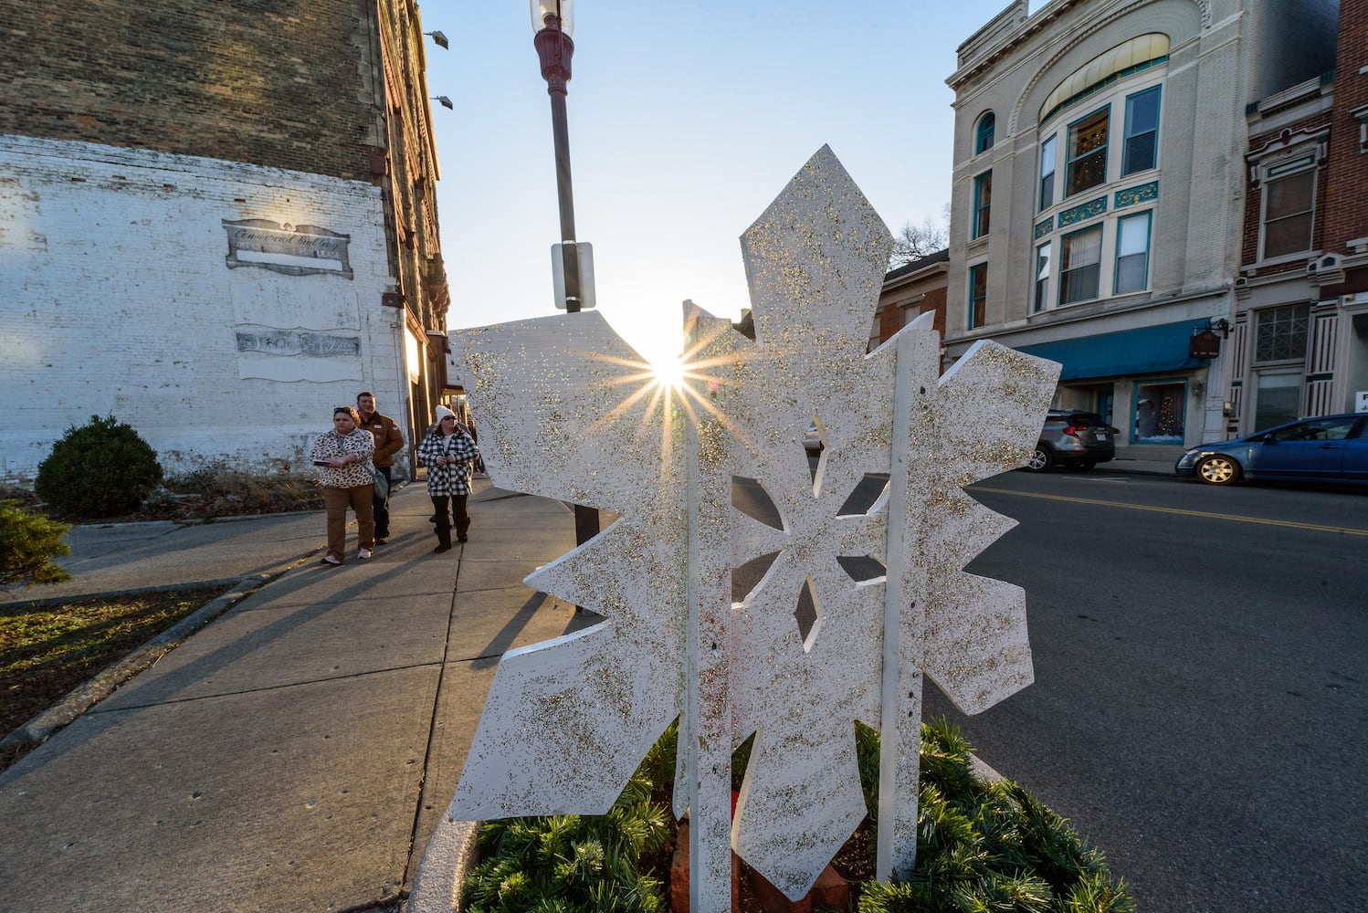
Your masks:
M569 83L579 241L598 310L643 355L680 302L750 305L740 234L824 144L882 216L949 201L955 49L1008 0L577 0ZM449 325L557 313L551 112L527 0L428 0Z

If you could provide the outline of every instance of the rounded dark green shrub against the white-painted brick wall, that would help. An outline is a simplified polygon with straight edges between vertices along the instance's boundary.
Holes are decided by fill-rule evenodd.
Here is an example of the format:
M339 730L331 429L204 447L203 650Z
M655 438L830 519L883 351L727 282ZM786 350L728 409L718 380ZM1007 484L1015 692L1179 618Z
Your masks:
M160 481L157 452L131 425L90 415L38 463L33 491L63 514L112 517L135 510Z

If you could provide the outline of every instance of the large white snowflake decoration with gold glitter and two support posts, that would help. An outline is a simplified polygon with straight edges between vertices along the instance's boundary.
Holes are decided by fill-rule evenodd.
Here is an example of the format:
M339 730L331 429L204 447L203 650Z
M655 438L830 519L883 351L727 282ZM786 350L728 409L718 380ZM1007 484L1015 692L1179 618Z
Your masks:
M1022 590L963 570L1014 521L963 488L1025 463L1059 366L982 342L940 376L929 316L866 354L889 247L822 148L743 236L755 340L687 305L681 390L595 313L454 333L499 485L617 518L527 578L606 621L505 655L453 819L603 813L679 718L691 909L729 909L732 847L799 898L865 815L859 720L882 734L880 877L910 873L921 675L969 712L1031 681ZM777 525L732 508L733 477ZM732 569L776 552L733 604Z

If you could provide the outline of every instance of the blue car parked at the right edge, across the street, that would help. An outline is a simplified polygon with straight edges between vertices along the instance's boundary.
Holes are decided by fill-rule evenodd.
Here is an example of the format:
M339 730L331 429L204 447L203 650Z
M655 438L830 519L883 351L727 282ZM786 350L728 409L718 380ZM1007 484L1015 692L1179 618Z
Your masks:
M1304 418L1193 447L1174 472L1211 485L1242 478L1368 484L1368 413Z

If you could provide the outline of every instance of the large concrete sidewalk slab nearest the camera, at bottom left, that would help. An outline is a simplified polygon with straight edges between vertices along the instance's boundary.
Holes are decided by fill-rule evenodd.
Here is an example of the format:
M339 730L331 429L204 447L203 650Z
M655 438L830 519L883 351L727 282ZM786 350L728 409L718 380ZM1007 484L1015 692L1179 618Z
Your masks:
M436 679L394 670L88 713L0 791L5 903L326 910L395 898L431 722L413 697Z

